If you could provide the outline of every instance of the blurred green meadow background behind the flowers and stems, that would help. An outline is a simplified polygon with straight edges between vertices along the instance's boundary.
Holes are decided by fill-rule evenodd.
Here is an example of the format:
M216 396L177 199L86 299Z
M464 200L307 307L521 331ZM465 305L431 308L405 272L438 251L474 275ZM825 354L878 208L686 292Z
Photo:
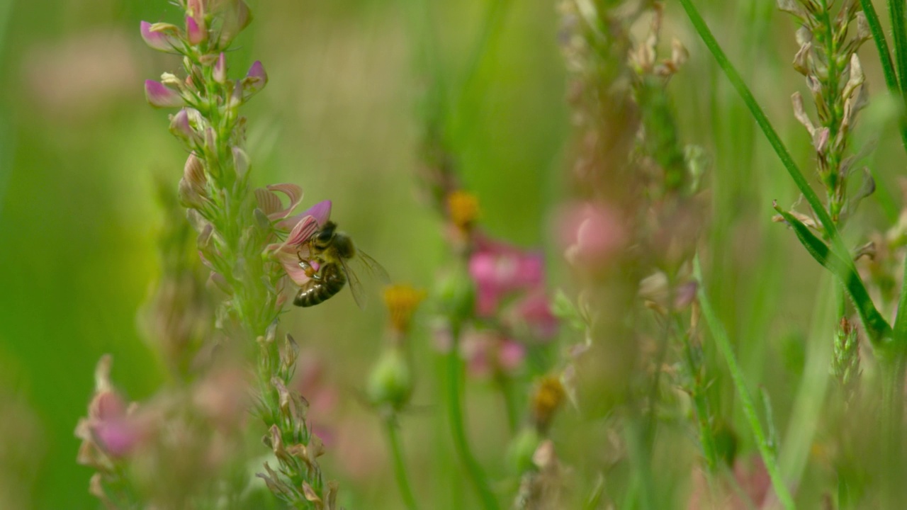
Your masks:
M453 91L449 142L463 181L480 198L483 226L521 246L545 247L551 288L567 286L551 221L564 200L571 140L555 5L510 3L477 51L493 3L430 4L429 24L414 0L250 2L255 20L229 62L234 75L254 60L268 71L268 87L245 111L253 179L300 184L304 205L333 200L333 218L395 280L430 288L446 249L440 223L414 185L423 129L418 104L430 82L418 64L427 32ZM715 299L748 377L774 397L776 423L808 435L815 411L798 404L793 388L827 367L821 346L811 354L820 344L810 338L821 339L831 321L826 329L811 327L821 272L793 235L769 221L773 199L787 205L797 194L670 4L665 39L677 36L691 54L670 89L680 133L712 161ZM811 168L808 136L789 103L791 93L805 90L789 65L793 22L774 2L697 5L802 167ZM20 448L11 458L35 508L98 506L87 494L90 470L75 464L73 437L98 358L112 353L112 377L133 399L151 396L164 378L137 311L158 271L161 211L153 182L163 176L175 192L185 153L167 131L167 113L145 102L142 81L179 63L146 47L138 27L140 20L178 18L163 0L0 0L0 409L7 422L0 440L6 451ZM883 90L874 48L866 44L861 54L871 90ZM852 232L883 225L900 201L895 178L903 159L887 129L886 104L874 102L857 133L858 143L878 142L868 163L881 192L864 204ZM325 462L357 508L399 506L378 420L358 396L381 345L385 318L376 304L362 312L345 291L317 309L291 311L284 322L336 387L328 425L338 441L356 444L336 446ZM417 495L447 501L457 482L430 476L455 464L449 449L436 447L447 439L434 412L440 404L428 329L421 327L415 345L414 406L422 410L406 417L403 435ZM507 431L497 396L482 381L467 392L474 449L500 478ZM738 411L727 415L746 430ZM741 436L742 448L750 448ZM581 463L582 440L563 440ZM795 466L806 453L790 455Z

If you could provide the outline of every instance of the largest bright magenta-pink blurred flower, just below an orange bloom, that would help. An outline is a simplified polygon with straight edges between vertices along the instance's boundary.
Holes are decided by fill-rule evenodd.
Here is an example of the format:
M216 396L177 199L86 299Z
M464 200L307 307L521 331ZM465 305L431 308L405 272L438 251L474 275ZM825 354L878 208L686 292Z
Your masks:
M479 239L477 245L469 274L475 282L475 312L480 317L492 317L502 299L514 291L532 289L544 281L541 253L493 240Z

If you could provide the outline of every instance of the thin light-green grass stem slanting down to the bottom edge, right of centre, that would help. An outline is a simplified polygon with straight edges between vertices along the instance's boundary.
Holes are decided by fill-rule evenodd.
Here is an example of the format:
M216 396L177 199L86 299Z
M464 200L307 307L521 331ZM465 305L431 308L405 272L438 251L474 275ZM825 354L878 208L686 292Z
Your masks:
M706 286L702 280L702 268L699 267L698 256L693 259L693 275L699 282L699 288L697 290L699 307L702 309L702 315L706 319L706 324L712 333L712 339L715 341L718 351L720 351L721 355L725 358L727 369L730 371L731 378L734 381L736 393L740 397L740 405L743 407L746 421L753 432L753 436L756 436L756 446L759 449L759 455L762 456L762 462L766 465L768 476L772 480L772 487L775 489L775 495L778 496L778 500L785 508L795 508L794 498L791 496L790 491L787 489L787 485L785 485L784 480L781 478L781 472L775 461L772 446L769 445L766 432L762 429L762 423L756 415L756 406L753 404L753 398L750 397L749 390L746 389L743 371L737 364L736 357L734 356L734 348L731 347L730 339L727 337L727 331L718 319L715 309L712 308L712 303L708 299Z

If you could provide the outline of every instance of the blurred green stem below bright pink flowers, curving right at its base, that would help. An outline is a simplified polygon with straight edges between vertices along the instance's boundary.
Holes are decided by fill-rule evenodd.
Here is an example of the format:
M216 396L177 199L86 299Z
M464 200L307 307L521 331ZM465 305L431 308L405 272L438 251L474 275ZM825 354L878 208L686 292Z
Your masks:
M457 456L460 457L469 479L473 482L476 492L479 493L479 499L482 500L482 506L486 510L497 510L500 508L497 498L494 497L488 481L485 479L482 466L475 460L473 451L466 440L466 432L463 428L463 396L461 395L460 377L463 371L463 362L460 359L459 343L460 328L451 325L451 338L453 342L451 350L445 356L447 358L447 413L450 420L451 433L453 434L453 449L456 450Z

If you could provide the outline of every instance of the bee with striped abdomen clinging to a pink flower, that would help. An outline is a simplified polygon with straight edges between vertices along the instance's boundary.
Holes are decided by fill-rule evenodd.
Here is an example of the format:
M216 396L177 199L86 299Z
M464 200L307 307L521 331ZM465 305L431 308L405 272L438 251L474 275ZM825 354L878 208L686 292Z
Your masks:
M344 232L336 230L334 221L327 221L308 240L308 258L299 255L299 267L310 279L299 287L293 304L298 307L314 307L331 299L349 283L353 299L359 308L365 308L365 293L356 273L349 268L350 260L366 267L379 279L390 281L387 271L363 250L357 250L353 240Z

